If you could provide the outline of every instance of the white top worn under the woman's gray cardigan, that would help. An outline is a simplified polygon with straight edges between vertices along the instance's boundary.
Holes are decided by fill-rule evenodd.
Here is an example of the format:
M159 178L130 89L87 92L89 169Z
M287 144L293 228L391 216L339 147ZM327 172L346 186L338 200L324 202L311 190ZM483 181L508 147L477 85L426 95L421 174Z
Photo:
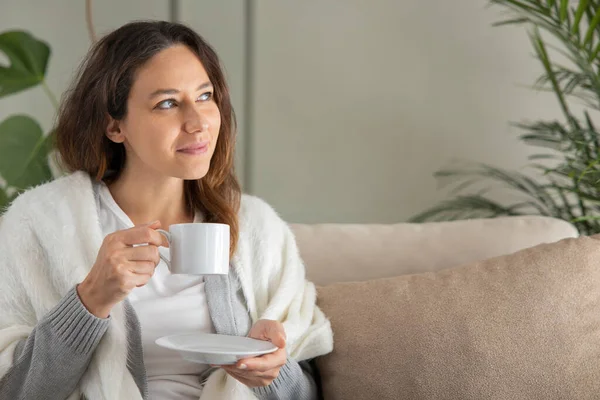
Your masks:
M134 226L104 183L94 184L94 190L104 236ZM197 220L198 215L195 222L199 222ZM168 248L159 247L159 251L169 258ZM206 303L204 277L171 275L161 260L150 281L135 288L128 299L141 325L150 399L200 398L202 387L198 376L209 366L186 361L177 352L159 347L154 341L179 333L216 333Z

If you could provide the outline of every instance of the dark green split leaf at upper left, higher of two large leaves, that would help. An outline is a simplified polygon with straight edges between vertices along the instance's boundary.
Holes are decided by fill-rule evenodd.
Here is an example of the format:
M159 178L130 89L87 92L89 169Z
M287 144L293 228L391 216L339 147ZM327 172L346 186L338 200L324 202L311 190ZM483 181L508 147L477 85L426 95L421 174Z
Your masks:
M46 75L50 47L27 32L11 31L0 35L0 52L9 66L0 66L0 97L40 84Z

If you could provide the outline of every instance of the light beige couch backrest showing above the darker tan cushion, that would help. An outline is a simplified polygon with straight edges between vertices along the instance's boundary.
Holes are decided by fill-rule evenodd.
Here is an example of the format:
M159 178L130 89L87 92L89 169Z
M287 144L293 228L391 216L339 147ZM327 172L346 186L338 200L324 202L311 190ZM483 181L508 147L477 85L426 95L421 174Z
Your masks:
M566 237L569 223L504 217L427 224L292 225L309 280L317 285L439 271Z

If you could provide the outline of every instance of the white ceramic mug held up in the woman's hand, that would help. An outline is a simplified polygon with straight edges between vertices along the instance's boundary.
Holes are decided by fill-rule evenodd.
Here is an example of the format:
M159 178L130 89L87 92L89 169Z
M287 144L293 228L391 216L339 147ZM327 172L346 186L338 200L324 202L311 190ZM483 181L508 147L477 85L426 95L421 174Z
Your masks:
M169 241L171 259L162 254L172 274L219 275L229 273L229 225L175 224L169 232L157 229Z

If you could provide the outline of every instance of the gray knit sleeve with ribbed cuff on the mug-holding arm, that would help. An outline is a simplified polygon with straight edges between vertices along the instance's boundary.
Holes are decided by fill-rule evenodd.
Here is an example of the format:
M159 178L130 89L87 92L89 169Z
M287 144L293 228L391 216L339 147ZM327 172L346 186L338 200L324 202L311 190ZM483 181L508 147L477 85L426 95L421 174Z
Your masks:
M16 346L13 365L0 379L0 399L66 399L109 321L91 314L71 289Z

